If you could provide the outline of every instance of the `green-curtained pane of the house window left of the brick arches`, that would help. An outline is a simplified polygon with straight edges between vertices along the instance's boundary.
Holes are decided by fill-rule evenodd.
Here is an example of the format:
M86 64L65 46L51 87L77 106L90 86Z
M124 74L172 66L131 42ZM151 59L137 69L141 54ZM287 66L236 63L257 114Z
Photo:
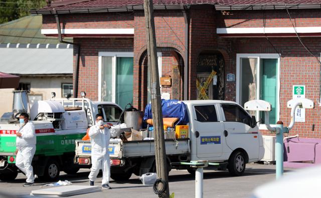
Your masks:
M117 57L116 64L116 103L125 108L133 102L133 58Z

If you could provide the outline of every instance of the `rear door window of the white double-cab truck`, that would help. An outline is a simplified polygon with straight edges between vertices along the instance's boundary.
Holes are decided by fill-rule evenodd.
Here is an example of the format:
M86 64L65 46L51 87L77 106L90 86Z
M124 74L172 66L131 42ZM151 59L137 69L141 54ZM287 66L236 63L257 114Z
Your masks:
M200 122L217 122L214 105L194 106L196 119Z

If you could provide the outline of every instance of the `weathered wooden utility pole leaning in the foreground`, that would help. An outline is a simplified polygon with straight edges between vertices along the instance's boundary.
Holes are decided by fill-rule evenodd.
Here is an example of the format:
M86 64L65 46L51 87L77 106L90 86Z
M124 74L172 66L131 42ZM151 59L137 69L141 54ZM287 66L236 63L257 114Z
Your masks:
M158 197L169 197L169 181L167 171L167 159L164 140L164 127L163 127L163 112L161 104L161 89L159 87L159 76L157 67L157 54L156 54L156 36L155 36L155 24L153 16L152 0L144 0L144 12L146 22L146 43L147 43L147 56L148 67L151 76L151 110L153 128L155 130L155 163L156 172L159 179L162 179L164 185L160 183L159 188L166 187L165 191L158 194Z

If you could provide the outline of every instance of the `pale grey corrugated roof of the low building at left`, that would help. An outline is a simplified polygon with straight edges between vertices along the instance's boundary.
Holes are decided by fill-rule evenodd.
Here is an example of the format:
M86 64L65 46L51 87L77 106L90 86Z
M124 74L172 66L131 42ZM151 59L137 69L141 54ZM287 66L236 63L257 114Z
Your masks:
M0 48L0 54L0 72L18 75L73 72L73 49Z

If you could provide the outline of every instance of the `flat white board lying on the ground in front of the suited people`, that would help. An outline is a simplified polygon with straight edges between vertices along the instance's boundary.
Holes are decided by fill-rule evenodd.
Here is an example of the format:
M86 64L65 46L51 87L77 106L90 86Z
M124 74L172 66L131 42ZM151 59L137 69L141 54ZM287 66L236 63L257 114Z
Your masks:
M90 192L101 191L99 186L85 185L65 185L59 187L51 187L39 190L32 190L30 195L33 196L73 196L77 194L86 194Z

